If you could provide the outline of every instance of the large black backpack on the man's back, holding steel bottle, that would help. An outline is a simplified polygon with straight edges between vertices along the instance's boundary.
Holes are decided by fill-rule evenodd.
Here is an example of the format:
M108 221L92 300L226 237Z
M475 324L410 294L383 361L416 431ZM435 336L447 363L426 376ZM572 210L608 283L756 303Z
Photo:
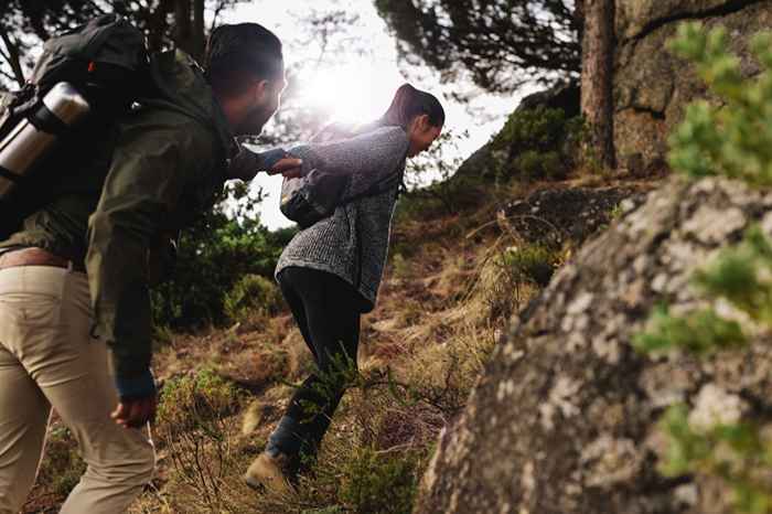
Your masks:
M0 161L0 240L41 206L40 200L30 199L35 197L34 190L44 189L46 168L62 168L46 167L47 162L56 162L56 147L62 140L72 143L85 138L87 126L95 126L97 120L111 122L128 111L136 98L148 94L148 60L144 34L116 14L95 18L46 41L26 84L0 98L0 157L19 143L22 128L31 138L26 144L34 147L42 141L51 147L26 159L31 162L23 175L4 169ZM86 119L73 126L62 122L49 109L50 103L44 103L46 95L56 96L57 88L64 86L87 103L83 106L88 110Z

